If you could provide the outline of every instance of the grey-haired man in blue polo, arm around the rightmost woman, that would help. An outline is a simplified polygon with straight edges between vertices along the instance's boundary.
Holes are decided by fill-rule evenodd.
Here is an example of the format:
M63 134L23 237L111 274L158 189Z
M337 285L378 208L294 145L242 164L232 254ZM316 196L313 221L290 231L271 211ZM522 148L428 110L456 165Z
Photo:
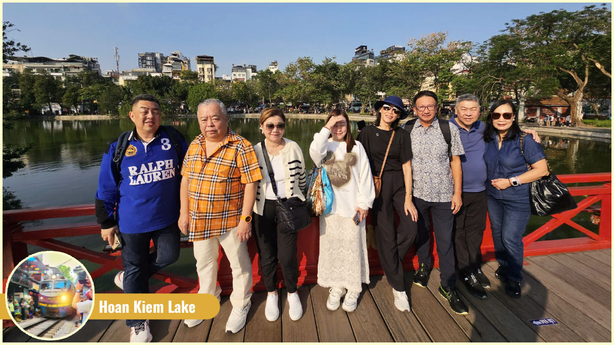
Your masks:
M480 246L486 228L486 163L484 163L484 130L486 124L479 121L480 100L470 94L456 99L456 115L449 122L459 129L464 155L462 166L462 206L454 215L456 265L461 281L475 297L486 298L484 287L491 282L480 269ZM535 141L540 142L536 131L530 130Z

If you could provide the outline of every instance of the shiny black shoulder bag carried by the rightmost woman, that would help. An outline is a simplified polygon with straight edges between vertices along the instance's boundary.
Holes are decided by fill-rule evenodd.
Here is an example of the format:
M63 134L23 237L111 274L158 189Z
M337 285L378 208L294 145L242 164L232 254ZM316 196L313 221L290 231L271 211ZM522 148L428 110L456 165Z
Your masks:
M523 139L525 136L527 136L526 133L520 134L520 150L523 152L523 157ZM530 185L531 214L551 215L578 207L567 187L552 172L547 160L546 164L548 165L548 174L531 182ZM527 163L527 168L531 169L529 163Z

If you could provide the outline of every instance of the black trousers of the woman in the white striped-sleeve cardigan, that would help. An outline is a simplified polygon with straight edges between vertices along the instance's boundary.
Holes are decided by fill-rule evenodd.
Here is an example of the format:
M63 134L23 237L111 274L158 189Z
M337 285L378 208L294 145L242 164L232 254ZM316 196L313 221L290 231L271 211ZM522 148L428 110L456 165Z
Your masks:
M285 201L286 199L282 199ZM286 289L289 293L297 291L298 260L297 234L282 234L277 231L275 222L276 200L265 200L262 215L254 212L254 228L260 270L265 281L266 291L277 289L277 264L284 273Z

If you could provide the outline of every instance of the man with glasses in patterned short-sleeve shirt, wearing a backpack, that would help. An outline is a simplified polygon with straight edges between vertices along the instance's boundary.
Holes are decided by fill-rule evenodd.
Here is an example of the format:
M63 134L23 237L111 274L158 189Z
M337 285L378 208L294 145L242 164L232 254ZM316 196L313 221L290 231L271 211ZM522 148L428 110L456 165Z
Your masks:
M420 91L413 99L414 112L419 120L411 129L411 171L413 177L414 204L418 209L418 243L416 254L420 267L414 276L414 284L426 287L429 281L432 258L430 256L430 220L437 242L437 255L441 271L439 293L448 300L457 314L467 314L467 306L456 291L454 265L453 224L454 214L462 204L462 147L459 130L447 121L440 123L437 114L437 95L432 91ZM449 128L451 149L445 141L442 127ZM451 153L451 159L449 157Z

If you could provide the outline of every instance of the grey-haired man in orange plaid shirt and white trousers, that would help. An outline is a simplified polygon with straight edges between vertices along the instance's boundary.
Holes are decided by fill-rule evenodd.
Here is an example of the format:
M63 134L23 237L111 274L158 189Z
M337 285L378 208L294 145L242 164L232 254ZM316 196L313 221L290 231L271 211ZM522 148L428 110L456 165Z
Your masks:
M230 262L233 310L226 333L244 327L252 297L252 263L247 239L252 236L252 208L262 179L254 147L228 128L226 107L205 99L196 111L201 134L190 144L181 170L179 229L194 242L200 289L218 299L217 259L221 245ZM184 320L195 327L203 320Z

